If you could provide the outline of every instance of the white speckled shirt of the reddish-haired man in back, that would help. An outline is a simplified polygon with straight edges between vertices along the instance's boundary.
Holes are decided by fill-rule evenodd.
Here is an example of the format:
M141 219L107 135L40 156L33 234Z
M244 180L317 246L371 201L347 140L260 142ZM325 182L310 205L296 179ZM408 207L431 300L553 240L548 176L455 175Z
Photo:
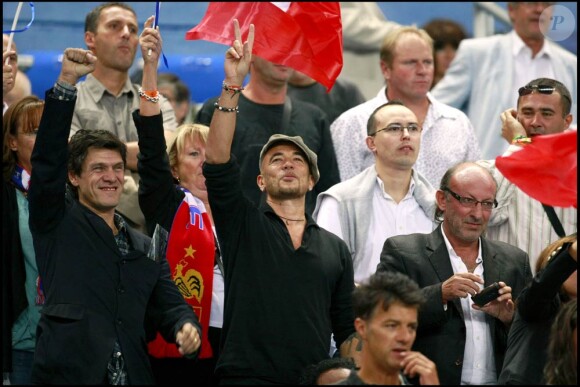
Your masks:
M336 153L340 180L344 181L375 162L366 145L367 121L372 112L387 103L386 87L377 96L342 113L332 125L330 134ZM421 149L415 163L434 187L451 166L460 161L481 159L477 136L467 116L458 109L438 102L430 93L429 110L423 123Z

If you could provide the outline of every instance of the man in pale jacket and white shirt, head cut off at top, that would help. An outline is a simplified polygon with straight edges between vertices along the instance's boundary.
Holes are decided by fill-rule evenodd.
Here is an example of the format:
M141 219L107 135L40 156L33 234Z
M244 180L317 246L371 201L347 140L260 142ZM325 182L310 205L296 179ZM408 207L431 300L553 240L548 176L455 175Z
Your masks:
M577 57L542 33L540 23L550 22L550 5L509 2L513 30L461 41L445 76L432 90L443 103L465 106L486 160L506 150L508 144L499 134L500 114L514 106L518 88L532 79L558 79L570 88L576 125Z

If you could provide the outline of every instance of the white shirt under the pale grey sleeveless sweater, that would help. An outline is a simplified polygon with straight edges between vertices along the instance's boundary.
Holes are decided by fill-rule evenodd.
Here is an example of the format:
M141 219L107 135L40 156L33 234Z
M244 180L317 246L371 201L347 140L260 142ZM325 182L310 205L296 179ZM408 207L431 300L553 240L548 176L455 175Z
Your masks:
M413 233L428 234L433 231L435 225L417 203L413 196L414 189L415 182L411 179L407 195L399 203L396 203L385 192L383 181L377 177L377 184L373 190L373 212L371 219L369 219L367 241L364 246L356 246L357 250L364 250L361 254L364 259L353 260L354 281L356 283L361 283L377 271L383 245L387 238ZM320 203L316 223L344 239L339 212L338 201L332 196L325 196Z

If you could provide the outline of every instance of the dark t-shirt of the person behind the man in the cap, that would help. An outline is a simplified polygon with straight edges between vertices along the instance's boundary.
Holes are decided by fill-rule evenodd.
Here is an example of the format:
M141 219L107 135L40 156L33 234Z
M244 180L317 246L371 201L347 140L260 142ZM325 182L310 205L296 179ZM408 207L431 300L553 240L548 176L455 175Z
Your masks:
M205 125L210 124L216 100L217 98L212 98L204 103L198 112L197 122ZM262 199L262 192L258 188L256 178L260 174L260 151L270 136L275 133L301 136L306 145L318 155L320 180L314 189L306 195L306 212L312 214L318 193L326 191L340 182L336 155L330 136L330 124L326 114L312 104L293 99L289 128L281 132L283 104L257 104L242 94L239 100L239 109L240 113L237 116L236 131L232 142L232 154L240 163L244 195L256 205Z

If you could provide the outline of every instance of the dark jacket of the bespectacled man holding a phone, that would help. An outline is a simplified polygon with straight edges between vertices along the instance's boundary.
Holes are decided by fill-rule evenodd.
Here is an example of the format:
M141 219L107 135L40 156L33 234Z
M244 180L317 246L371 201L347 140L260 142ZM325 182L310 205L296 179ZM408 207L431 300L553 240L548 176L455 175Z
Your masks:
M485 285L503 281L512 288L515 300L532 278L528 254L507 243L481 238ZM449 252L441 226L430 234L399 235L383 246L377 271L398 271L417 282L427 303L419 310L419 327L413 350L437 365L441 384L459 385L463 369L466 328L459 299L442 305L441 284L453 276ZM486 314L497 375L506 351L509 328ZM413 382L413 380L412 380Z

